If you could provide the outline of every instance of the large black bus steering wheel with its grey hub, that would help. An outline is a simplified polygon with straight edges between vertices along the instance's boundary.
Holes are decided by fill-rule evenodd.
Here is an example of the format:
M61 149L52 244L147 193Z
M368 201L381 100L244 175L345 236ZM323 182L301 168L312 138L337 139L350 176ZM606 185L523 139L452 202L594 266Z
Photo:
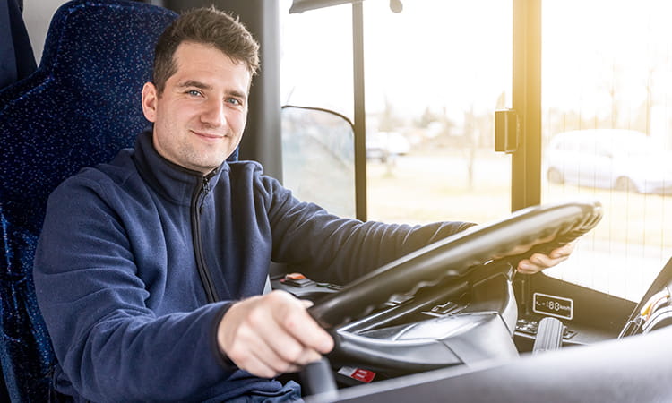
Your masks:
M332 332L330 359L362 364L385 376L515 357L512 336L518 313L512 266L531 253L548 253L573 241L601 218L599 201L519 210L390 262L318 299L308 312ZM547 239L551 241L539 244ZM520 245L534 246L512 255ZM391 296L404 295L414 297L385 307ZM454 304L455 296L465 295L468 304L442 311ZM377 308L383 309L366 316ZM426 319L435 312L441 314Z

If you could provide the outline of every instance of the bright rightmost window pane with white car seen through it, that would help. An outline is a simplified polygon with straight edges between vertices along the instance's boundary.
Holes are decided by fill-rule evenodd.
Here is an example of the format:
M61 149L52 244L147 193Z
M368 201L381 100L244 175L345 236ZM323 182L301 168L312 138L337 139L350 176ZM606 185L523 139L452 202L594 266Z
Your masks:
M547 273L633 301L672 256L672 26L667 4L542 4L542 135L582 131L582 161L544 180L542 202L599 199L605 216ZM571 27L571 29L568 29ZM627 28L625 28L627 27ZM650 142L643 152L638 144ZM553 150L543 150L548 168ZM666 162L664 162L666 161ZM550 178L546 172L542 178ZM556 175L556 173L554 173ZM557 177L556 177L557 178Z

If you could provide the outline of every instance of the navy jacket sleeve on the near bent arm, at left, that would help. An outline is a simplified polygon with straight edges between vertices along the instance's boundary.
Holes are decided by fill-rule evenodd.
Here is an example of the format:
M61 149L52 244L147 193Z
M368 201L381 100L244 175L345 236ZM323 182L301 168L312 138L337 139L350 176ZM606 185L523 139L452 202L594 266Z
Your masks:
M235 369L222 364L213 326L228 303L153 313L125 228L99 192L58 188L39 239L35 287L59 364L93 401L204 400Z

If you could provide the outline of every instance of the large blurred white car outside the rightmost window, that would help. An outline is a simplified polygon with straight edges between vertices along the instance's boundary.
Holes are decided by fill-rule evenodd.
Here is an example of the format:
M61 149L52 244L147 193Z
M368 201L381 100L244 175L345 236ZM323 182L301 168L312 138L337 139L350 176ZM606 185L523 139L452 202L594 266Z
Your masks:
M672 153L641 132L575 130L556 134L545 163L551 183L672 193Z

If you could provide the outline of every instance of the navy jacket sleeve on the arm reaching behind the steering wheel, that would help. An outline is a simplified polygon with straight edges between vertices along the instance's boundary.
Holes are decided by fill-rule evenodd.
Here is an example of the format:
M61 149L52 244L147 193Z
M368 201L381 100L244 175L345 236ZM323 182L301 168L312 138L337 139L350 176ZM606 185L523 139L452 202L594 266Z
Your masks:
M445 221L411 226L343 219L298 201L274 179L262 177L262 183L270 200L273 260L287 262L319 281L347 284L474 225Z

